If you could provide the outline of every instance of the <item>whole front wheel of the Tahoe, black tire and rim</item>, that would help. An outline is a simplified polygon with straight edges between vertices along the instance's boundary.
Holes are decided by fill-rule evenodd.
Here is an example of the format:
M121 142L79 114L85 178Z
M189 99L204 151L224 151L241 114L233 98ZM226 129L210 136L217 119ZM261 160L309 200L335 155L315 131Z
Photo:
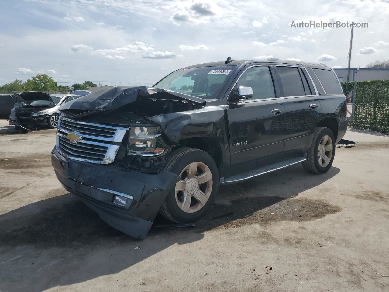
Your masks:
M213 158L195 148L173 151L165 169L181 180L163 202L160 213L178 223L200 219L209 210L219 187L219 172Z

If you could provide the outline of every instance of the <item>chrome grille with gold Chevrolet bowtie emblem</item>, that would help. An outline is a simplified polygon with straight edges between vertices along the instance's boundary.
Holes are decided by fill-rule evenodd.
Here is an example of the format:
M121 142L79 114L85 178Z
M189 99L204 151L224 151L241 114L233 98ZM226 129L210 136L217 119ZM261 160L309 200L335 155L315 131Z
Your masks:
M70 159L109 164L114 161L127 130L60 117L56 149Z

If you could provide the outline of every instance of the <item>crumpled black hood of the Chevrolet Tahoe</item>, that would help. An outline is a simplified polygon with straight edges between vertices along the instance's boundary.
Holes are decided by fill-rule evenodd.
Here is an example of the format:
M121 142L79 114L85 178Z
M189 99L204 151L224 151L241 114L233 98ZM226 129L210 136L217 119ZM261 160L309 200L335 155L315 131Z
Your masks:
M60 111L73 117L88 116L97 112L109 112L126 106L137 100L165 100L172 102L193 103L205 106L206 100L191 95L148 86L117 86L97 91L60 107Z

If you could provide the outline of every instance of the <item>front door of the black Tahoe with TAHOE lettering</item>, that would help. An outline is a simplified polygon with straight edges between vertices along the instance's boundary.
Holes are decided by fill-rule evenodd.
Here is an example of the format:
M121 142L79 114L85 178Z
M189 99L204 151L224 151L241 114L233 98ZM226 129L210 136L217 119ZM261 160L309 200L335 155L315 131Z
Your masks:
M284 151L285 106L275 94L273 79L269 66L249 67L231 94L239 86L249 86L253 97L235 103L227 100L231 174L266 166L265 158Z

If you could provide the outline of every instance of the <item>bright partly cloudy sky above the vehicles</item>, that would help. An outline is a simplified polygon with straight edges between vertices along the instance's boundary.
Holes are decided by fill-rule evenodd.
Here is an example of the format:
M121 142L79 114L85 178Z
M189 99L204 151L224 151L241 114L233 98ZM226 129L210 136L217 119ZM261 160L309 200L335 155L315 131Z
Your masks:
M389 59L389 0L1 0L0 11L0 85L39 73L67 86L152 85L228 56L347 68L351 29L301 21L367 23L354 28L351 67Z

